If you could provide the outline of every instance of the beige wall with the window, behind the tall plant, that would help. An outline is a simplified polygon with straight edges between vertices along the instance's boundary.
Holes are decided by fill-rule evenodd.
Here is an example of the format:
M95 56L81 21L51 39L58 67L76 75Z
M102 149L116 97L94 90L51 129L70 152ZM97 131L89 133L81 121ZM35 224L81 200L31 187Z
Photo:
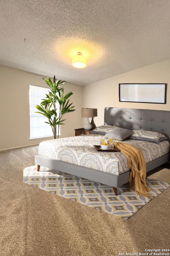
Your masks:
M48 87L46 82L40 75L4 66L0 66L0 77L0 150L39 144L44 139L29 140L29 85ZM82 125L83 87L66 83L64 89L65 94L73 92L70 103L76 109L63 116L66 121L61 126L61 137L70 137Z

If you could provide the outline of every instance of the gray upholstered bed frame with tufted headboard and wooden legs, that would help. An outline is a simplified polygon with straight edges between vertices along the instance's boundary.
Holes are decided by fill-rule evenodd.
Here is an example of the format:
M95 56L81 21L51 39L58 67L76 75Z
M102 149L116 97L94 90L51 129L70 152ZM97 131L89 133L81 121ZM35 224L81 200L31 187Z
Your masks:
M106 107L104 111L104 124L131 130L157 131L167 136L170 140L170 111ZM153 170L169 160L170 153L146 163L146 171ZM38 171L40 166L44 166L111 186L116 195L118 194L117 188L129 181L130 171L115 175L40 155L35 155L35 164Z

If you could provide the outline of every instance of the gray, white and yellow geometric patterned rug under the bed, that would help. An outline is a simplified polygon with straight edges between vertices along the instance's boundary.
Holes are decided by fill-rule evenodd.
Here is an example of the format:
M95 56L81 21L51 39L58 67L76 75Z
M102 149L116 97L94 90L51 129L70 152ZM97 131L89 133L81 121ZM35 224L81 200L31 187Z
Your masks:
M23 181L125 220L170 186L169 183L163 181L146 179L147 186L152 189L149 191L150 197L137 195L129 187L129 183L119 187L118 196L116 196L110 186L43 166L40 167L40 171L37 171L36 165L23 170Z

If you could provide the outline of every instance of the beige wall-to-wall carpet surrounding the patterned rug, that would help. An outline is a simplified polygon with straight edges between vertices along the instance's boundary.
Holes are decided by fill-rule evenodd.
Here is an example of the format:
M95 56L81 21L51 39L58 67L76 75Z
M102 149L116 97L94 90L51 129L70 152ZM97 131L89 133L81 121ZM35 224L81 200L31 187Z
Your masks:
M125 221L23 183L37 149L0 153L0 255L116 256L169 248L170 188ZM170 166L162 168L149 178L170 182Z

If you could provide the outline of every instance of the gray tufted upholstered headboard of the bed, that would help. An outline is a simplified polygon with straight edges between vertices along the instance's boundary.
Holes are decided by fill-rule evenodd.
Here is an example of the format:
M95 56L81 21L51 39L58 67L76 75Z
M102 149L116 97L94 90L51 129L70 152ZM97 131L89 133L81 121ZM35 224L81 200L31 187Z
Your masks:
M130 130L157 131L170 139L170 111L106 107L104 124Z

